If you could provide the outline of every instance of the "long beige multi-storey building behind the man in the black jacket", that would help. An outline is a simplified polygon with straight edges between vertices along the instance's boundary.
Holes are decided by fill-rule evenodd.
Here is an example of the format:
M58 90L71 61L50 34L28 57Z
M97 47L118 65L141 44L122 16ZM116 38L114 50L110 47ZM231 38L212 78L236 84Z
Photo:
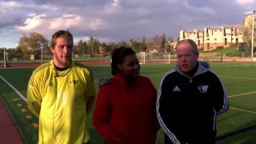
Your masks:
M214 50L238 45L243 42L242 26L206 27L204 30L181 30L179 40L190 38L196 42L198 49Z

